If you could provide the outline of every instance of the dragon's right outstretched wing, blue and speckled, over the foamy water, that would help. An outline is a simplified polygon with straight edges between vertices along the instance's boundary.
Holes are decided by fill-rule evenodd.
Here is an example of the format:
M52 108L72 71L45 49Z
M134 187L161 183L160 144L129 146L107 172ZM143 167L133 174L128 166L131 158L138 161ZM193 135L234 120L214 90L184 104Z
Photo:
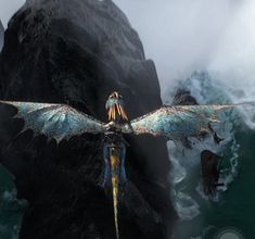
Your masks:
M208 125L218 122L218 112L233 108L226 105L163 106L152 113L130 122L123 133L151 134L170 140L196 137L209 131Z

